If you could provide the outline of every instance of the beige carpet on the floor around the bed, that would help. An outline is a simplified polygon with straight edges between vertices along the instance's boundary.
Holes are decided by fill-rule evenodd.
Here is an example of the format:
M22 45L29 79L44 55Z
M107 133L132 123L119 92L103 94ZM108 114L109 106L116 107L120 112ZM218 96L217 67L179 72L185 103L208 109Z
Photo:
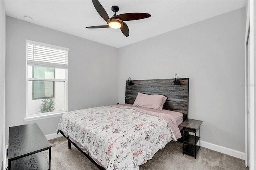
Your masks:
M52 170L98 170L75 146L64 137L49 140L52 144ZM48 160L48 152L44 151ZM197 159L182 154L182 143L170 142L160 149L140 170L248 170L244 160L201 147Z

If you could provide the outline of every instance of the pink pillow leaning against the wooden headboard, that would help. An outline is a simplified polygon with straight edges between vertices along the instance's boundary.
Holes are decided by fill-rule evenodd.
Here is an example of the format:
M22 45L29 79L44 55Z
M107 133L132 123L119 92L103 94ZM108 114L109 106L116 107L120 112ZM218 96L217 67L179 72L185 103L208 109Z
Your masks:
M139 92L133 106L162 110L166 99L164 95L147 95Z

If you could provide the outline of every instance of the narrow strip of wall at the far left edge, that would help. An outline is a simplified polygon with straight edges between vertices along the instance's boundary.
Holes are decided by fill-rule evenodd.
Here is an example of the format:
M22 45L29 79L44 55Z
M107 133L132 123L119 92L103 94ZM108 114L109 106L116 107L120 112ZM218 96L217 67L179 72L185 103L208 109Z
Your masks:
M0 169L5 150L5 8L0 1Z

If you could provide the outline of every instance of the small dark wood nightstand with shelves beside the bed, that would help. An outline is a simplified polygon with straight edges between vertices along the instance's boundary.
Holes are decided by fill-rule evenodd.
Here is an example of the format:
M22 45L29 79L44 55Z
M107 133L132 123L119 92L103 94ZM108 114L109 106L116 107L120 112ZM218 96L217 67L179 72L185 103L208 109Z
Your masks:
M201 149L201 140L200 140L200 126L203 121L198 121L194 119L186 119L182 124L183 127L183 142L182 142L182 154L190 154L195 156L198 151ZM196 132L199 130L199 136L196 136ZM188 135L184 136L184 131L188 132ZM189 132L195 133L194 135L189 134ZM197 145L199 140L199 146ZM186 145L184 147L184 145Z

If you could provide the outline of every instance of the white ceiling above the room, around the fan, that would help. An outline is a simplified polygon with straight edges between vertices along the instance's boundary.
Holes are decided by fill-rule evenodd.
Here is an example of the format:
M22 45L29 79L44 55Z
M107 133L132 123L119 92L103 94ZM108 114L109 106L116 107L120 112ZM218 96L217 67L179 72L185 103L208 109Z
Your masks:
M126 21L130 36L120 29L87 29L107 25L91 0L4 0L6 15L20 20L33 18L34 24L86 38L95 42L123 47L150 37L181 28L246 5L246 0L99 0L108 16L118 6L118 14L150 13L143 20Z

